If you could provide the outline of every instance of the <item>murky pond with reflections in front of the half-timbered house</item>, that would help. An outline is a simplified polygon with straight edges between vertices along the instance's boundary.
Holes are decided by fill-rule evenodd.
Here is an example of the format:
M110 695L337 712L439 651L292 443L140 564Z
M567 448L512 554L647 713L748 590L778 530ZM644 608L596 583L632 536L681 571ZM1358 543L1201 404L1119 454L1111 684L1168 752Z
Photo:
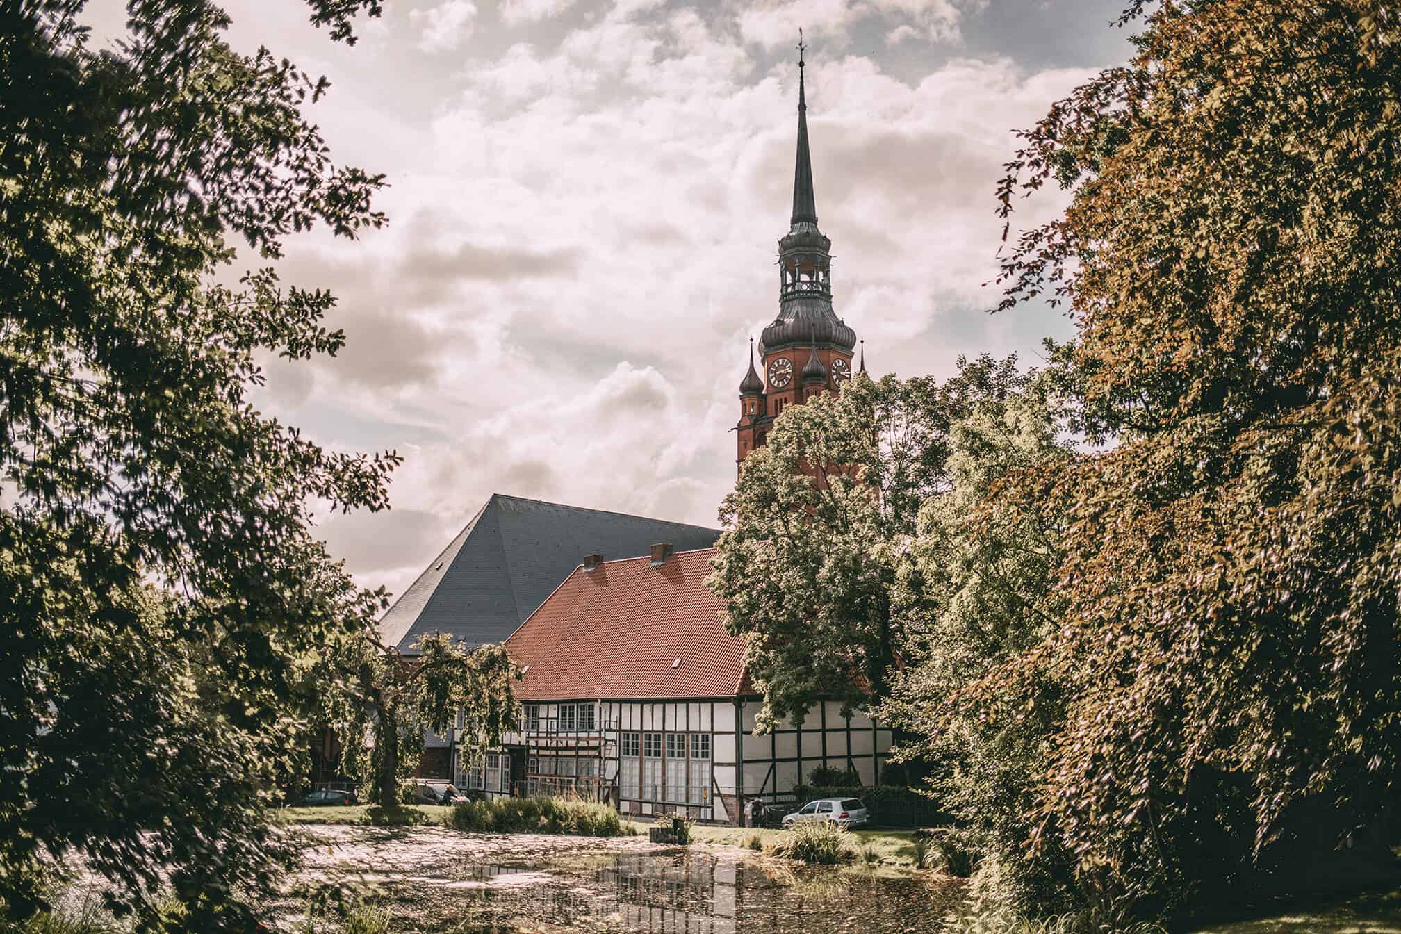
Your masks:
M636 839L465 837L430 829L332 847L322 872L373 886L396 930L825 934L929 931L961 886L922 872L801 867Z

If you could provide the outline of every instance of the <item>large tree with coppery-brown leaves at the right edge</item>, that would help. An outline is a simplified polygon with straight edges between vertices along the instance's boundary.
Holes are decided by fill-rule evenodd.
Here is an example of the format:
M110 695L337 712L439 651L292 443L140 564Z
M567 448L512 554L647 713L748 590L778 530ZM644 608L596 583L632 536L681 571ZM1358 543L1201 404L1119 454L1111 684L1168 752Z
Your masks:
M1006 210L1073 192L1005 305L1068 302L1084 427L1117 447L1027 479L1069 494L1063 609L986 686L1068 686L1033 842L1164 910L1306 828L1376 844L1397 804L1401 25L1215 0L1143 27L1003 183Z

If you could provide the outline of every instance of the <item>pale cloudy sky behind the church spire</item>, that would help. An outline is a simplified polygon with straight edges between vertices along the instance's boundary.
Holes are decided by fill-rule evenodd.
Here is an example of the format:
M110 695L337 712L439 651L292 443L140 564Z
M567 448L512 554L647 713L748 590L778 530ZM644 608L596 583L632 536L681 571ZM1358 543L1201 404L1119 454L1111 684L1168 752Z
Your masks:
M235 46L325 74L340 162L391 223L307 235L347 346L270 361L259 405L394 449L394 507L322 532L401 591L493 493L713 525L748 336L773 318L797 64L839 315L874 372L1037 361L1059 312L989 315L1012 130L1122 62L1121 0L387 0L346 48L290 0L228 0ZM92 0L98 35L120 0ZM1021 213L1033 223L1055 197Z

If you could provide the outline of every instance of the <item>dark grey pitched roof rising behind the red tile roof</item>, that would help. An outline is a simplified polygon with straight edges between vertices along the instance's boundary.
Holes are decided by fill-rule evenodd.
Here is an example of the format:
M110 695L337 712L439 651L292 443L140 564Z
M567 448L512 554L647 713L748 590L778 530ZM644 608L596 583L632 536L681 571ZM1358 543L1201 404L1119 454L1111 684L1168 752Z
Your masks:
M486 506L380 619L380 639L412 654L426 634L458 644L499 643L545 602L584 555L646 555L710 548L719 529L584 510L493 493Z

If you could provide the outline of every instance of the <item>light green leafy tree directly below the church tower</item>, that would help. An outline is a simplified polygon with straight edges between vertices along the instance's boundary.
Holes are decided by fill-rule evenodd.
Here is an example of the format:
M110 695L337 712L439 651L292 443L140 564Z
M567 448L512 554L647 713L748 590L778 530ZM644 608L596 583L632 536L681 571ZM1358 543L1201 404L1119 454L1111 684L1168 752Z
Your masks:
M761 724L800 718L824 697L855 707L885 695L899 647L898 543L947 486L951 420L1019 379L1012 358L960 367L943 385L857 375L786 409L744 459L720 507L710 587L747 640Z

